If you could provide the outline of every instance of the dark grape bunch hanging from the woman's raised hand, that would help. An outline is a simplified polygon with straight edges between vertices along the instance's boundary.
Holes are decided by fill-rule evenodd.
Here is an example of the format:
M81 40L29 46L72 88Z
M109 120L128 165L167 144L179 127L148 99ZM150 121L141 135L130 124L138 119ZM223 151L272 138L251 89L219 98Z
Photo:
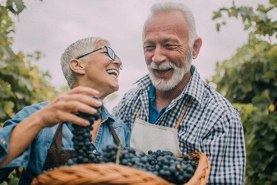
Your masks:
M93 98L100 100L97 96L93 96ZM101 100L100 100L101 101ZM69 159L66 165L77 165L84 164L88 161L88 151L91 150L91 133L90 130L93 129L92 125L95 120L98 120L101 117L100 108L94 107L97 112L95 114L87 114L84 112L77 112L76 115L87 119L90 122L90 125L87 127L82 127L73 124L73 144L75 148L75 153L73 159Z

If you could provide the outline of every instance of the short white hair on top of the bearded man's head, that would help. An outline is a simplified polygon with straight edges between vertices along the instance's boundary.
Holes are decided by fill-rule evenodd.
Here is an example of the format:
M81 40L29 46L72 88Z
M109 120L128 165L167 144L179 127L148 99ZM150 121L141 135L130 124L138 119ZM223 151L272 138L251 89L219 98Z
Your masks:
M156 3L150 8L150 14L148 18L145 20L142 31L142 39L145 37L145 27L148 23L149 19L151 19L156 13L166 13L173 10L180 10L183 12L185 18L188 21L188 32L189 32L189 46L192 47L195 39L197 38L195 21L191 10L182 3L175 2L164 2L164 3Z

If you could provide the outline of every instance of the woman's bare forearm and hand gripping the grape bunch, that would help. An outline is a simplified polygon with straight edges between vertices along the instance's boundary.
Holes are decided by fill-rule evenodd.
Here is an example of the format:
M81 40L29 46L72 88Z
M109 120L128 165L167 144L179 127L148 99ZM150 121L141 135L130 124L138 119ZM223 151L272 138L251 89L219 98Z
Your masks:
M12 129L9 137L7 156L0 162L0 166L9 164L21 154L33 141L38 132L47 127L52 127L63 121L76 125L87 126L89 122L75 115L77 111L90 114L96 113L93 107L102 106L102 102L92 98L98 92L87 87L77 87L56 98L51 104L35 111L32 115L22 120Z

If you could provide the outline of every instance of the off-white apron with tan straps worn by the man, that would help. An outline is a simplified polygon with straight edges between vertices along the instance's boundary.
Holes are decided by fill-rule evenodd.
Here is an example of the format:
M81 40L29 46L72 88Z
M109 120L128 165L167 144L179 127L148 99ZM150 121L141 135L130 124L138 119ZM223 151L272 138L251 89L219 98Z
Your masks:
M190 101L191 99L192 96ZM161 151L165 150L173 152L175 157L183 156L179 147L177 128L189 105L190 102L186 106L186 109L182 113L174 129L150 124L138 119L140 109L131 131L130 147L135 148L137 154L141 151L148 154L149 150L156 151L157 149L160 149Z

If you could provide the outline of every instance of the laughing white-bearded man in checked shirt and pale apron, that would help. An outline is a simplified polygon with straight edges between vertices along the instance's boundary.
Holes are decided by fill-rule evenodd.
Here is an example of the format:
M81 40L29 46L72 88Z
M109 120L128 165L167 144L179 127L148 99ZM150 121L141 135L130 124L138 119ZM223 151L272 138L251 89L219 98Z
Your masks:
M191 11L180 3L153 5L142 38L149 74L113 109L132 129L130 146L175 156L202 151L211 164L208 184L244 184L240 115L191 65L202 45Z

